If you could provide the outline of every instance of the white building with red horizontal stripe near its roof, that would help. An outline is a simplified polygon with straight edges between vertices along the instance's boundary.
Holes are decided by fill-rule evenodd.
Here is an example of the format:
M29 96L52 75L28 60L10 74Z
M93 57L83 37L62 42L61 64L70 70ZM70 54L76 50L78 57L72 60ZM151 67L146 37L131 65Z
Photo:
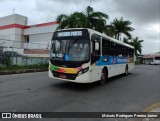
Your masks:
M17 51L30 56L48 56L57 22L28 25L28 18L13 14L0 18L0 51Z

